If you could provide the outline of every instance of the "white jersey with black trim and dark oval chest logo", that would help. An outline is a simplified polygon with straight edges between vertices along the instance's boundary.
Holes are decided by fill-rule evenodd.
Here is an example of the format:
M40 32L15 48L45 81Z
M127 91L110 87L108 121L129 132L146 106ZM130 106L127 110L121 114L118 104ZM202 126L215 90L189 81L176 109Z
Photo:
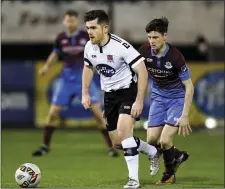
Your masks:
M133 68L143 60L131 44L114 34L109 34L104 46L88 41L84 49L84 63L97 70L101 89L105 92L129 88L132 83L137 83Z

